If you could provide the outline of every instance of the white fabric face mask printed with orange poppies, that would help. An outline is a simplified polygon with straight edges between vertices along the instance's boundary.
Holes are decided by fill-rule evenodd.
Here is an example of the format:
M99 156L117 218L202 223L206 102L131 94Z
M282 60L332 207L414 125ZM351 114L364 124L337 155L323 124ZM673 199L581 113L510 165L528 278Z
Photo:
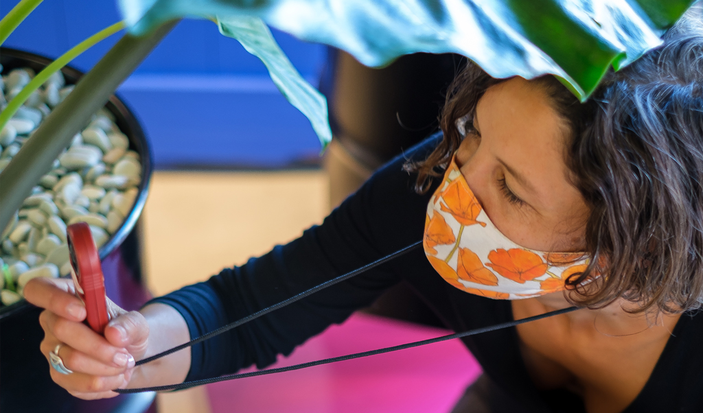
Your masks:
M454 159L427 204L423 247L446 282L491 299L529 299L565 289L586 270L584 253L534 251L505 237L486 215Z

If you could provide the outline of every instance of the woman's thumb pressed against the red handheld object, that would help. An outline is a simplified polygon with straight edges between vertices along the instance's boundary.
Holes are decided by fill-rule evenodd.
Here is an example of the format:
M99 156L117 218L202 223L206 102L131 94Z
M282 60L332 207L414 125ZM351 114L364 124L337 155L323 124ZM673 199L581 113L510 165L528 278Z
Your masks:
M146 353L149 325L138 311L122 313L110 320L104 334L112 346L126 348L136 360Z

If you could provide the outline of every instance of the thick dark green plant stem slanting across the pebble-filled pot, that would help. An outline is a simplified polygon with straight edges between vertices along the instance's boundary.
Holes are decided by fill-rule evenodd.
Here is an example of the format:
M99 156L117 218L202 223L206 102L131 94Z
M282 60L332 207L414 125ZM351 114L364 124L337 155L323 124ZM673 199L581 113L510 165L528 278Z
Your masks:
M32 187L51 169L54 159L70 144L73 136L178 21L166 22L142 37L125 34L41 122L0 173L0 228L6 228Z

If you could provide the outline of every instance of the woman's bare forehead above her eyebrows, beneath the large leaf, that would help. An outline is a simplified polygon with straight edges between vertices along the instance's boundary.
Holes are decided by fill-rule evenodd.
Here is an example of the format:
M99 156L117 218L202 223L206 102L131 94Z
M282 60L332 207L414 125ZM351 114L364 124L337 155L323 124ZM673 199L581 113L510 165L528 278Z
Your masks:
M475 120L491 154L521 173L536 195L575 190L567 180L565 122L541 86L521 77L492 86L479 100Z

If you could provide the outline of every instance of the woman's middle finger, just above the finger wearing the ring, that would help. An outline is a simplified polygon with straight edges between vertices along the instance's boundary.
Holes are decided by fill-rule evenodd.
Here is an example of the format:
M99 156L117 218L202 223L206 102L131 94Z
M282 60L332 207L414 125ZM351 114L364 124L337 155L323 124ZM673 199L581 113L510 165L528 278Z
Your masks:
M47 348L47 346L51 347L51 345L56 346L58 343L64 343L66 346L84 353L86 358L91 358L95 362L105 365L105 368L113 367L120 369L120 372L122 372L129 365L131 355L127 353L126 349L112 346L103 336L93 332L90 327L82 322L73 322L46 310L39 315L39 324L46 332L41 348L45 355L49 353L49 350L53 350L53 348ZM82 358L79 360L87 363ZM131 362L134 362L134 359ZM93 364L88 363L87 365ZM72 367L68 368L72 369ZM99 374L94 370L91 370L91 372Z

